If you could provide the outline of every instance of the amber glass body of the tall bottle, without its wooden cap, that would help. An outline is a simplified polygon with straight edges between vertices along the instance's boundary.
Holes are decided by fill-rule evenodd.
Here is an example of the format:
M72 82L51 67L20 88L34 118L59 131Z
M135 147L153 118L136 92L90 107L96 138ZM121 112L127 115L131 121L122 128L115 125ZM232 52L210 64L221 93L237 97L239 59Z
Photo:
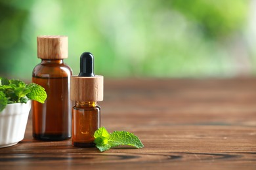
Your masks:
M32 82L43 86L47 92L44 104L32 102L35 139L61 141L71 137L71 75L72 70L63 59L42 59L33 69Z

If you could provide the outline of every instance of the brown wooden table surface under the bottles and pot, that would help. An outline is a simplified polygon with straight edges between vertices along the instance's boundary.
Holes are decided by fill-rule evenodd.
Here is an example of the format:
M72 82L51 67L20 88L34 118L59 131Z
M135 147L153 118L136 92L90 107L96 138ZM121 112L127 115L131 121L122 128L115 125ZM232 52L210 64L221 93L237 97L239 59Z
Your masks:
M24 140L0 148L0 169L256 169L256 78L105 78L102 126L137 135L144 148L75 148Z

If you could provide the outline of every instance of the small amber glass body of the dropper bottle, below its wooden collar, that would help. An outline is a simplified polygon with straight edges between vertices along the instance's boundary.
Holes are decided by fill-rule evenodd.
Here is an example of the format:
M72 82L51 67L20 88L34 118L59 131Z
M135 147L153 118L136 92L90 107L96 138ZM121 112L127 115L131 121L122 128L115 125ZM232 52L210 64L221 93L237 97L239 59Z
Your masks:
M72 109L72 144L93 147L95 131L100 127L100 107L96 102L75 102Z

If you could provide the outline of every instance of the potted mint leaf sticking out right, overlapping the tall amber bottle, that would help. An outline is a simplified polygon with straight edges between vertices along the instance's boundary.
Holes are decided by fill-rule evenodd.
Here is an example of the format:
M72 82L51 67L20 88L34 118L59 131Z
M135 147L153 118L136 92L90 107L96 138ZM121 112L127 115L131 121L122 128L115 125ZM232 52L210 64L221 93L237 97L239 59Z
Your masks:
M35 83L30 83L27 87L30 89L30 92L27 94L29 99L38 101L39 103L45 103L47 93L42 86Z

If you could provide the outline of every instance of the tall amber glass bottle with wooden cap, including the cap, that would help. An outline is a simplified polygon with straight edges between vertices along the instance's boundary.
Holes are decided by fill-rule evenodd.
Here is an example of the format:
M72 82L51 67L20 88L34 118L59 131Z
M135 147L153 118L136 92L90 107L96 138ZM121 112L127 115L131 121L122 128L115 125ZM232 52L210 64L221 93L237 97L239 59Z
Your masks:
M32 82L47 92L44 104L33 101L33 137L43 141L60 141L71 137L72 106L70 76L72 69L64 63L68 58L68 37L37 37L37 57Z

